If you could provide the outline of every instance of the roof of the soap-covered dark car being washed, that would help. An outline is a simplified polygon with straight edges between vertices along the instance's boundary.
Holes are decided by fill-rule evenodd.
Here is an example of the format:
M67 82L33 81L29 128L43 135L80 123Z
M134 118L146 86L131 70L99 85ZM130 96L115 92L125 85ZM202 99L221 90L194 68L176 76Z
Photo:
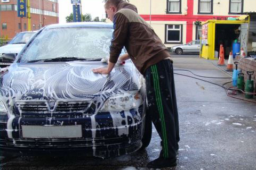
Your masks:
M63 23L63 24L47 25L45 27L45 29L70 28L70 27L103 27L103 28L113 28L113 23L106 23L106 22L69 22L69 23Z

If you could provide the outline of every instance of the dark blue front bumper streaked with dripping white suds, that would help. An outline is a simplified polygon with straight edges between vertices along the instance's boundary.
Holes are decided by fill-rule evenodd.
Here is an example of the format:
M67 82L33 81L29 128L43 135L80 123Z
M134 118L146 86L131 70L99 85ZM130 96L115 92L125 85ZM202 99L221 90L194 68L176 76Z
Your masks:
M0 154L2 156L17 153L28 156L79 154L97 157L130 154L142 146L145 114L143 114L143 106L125 112L130 112L131 116L122 117L121 115L119 119L114 120L110 114L101 113L93 118L90 116L52 118L49 122L54 126L58 126L59 122L62 122L59 126L82 125L82 138L22 138L22 125L43 126L45 122L49 121L49 118L15 117L11 123L12 130L7 129L10 123L2 121L0 123ZM94 118L97 124L96 129L92 128L91 123ZM116 122L116 125L119 125L114 126L113 121L119 122Z

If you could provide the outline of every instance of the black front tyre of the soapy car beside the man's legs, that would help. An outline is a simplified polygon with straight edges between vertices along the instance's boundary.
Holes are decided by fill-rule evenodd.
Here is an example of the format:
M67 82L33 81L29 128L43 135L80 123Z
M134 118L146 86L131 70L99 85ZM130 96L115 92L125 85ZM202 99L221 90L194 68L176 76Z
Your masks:
M148 113L146 113L146 117L145 117L145 130L144 130L144 134L142 137L142 147L141 149L146 148L150 141L151 141L151 135L152 135L152 122L151 122L151 118L149 116Z

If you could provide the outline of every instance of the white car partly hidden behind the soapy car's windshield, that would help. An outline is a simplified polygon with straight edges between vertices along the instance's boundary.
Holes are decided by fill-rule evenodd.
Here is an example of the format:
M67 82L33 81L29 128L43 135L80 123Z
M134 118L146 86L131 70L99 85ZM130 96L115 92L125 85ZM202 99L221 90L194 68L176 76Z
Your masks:
M0 47L0 54L15 53L18 55L21 49L35 35L35 31L26 31L18 33L11 41L5 46Z

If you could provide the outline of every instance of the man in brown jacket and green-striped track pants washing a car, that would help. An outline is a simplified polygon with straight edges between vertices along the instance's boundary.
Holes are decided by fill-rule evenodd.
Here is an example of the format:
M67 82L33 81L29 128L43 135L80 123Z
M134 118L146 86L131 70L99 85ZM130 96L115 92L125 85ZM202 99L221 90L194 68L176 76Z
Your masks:
M151 26L137 14L134 5L122 0L107 0L105 10L114 23L108 67L93 69L94 73L109 74L125 46L127 54L144 75L149 113L162 139L159 158L148 163L149 168L176 166L179 142L179 121L175 96L173 67L170 53Z

